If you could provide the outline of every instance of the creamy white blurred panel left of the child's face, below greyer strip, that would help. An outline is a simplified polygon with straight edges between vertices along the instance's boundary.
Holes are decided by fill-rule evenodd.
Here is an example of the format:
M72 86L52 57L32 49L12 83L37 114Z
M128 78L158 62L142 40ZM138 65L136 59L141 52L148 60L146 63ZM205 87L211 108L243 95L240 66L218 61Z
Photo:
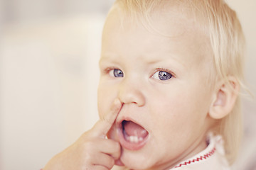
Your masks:
M4 27L0 169L39 169L95 123L103 18Z

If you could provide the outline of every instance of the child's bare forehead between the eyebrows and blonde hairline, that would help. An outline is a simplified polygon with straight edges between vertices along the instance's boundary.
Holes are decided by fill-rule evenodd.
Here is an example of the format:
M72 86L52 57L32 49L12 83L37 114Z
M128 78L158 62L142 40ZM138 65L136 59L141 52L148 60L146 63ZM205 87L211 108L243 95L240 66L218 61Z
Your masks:
M181 60L191 62L212 60L210 40L198 25L188 6L181 4L161 4L149 16L141 13L135 18L124 8L115 6L105 23L102 52L129 47L134 55L139 51L141 55L164 51L178 53Z

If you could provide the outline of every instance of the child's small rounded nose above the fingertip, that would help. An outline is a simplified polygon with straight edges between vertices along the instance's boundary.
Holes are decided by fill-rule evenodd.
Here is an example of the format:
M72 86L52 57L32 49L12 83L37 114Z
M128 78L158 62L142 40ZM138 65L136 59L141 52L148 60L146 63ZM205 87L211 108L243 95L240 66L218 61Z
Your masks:
M139 81L124 80L119 84L119 100L124 104L136 104L139 107L144 106L145 96L142 85Z

